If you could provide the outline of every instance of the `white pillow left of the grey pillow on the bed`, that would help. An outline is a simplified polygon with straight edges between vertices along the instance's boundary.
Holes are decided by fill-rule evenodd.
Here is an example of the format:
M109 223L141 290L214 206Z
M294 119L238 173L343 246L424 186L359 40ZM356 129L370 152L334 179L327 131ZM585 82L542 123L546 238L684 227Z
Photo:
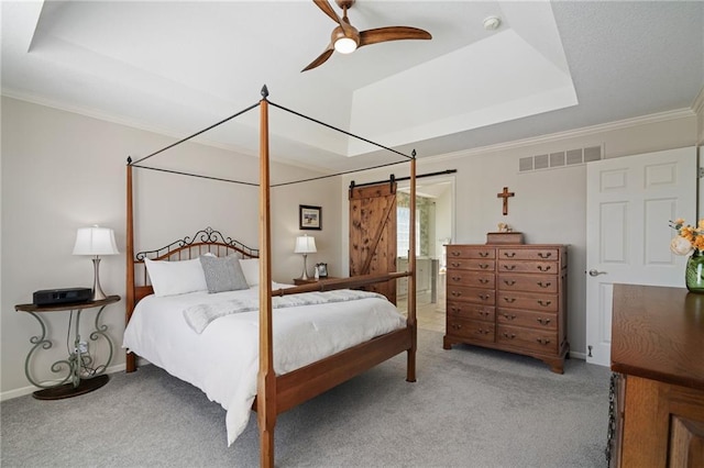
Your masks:
M144 259L157 297L207 291L206 275L199 258L180 261L155 261Z

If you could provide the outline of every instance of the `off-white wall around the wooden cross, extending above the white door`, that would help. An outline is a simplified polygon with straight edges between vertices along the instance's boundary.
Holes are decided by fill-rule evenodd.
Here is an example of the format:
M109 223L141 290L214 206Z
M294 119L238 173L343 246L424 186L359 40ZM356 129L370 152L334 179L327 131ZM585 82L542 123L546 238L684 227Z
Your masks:
M524 233L526 243L569 245L568 336L573 354L583 356L586 349L586 166L519 174L518 160L526 156L598 145L604 146L606 157L693 146L696 127L693 113L672 113L582 129L571 134L541 137L536 142L421 157L417 163L417 174L458 170L454 175L454 243L484 244L486 233L496 231L498 222L506 222L515 231ZM406 167L395 166L383 171L358 174L354 179L358 183L364 183L387 178L392 172L396 177L408 175ZM349 179L343 181L344 187L349 185ZM507 216L502 214L502 199L496 197L504 187L516 193L508 201ZM342 232L346 232L345 229ZM344 256L346 238L341 242Z

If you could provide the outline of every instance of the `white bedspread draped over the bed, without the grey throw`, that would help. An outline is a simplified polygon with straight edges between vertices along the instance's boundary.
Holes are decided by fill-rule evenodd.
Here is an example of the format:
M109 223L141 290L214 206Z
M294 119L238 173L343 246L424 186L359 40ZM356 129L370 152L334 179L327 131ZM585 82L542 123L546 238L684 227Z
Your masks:
M274 289L286 287L275 285ZM258 371L258 312L217 319L201 334L184 310L219 301L251 300L258 288L193 292L141 300L124 331L123 347L201 389L227 410L228 445L249 422ZM406 319L385 299L273 310L274 370L298 369L326 356L402 328Z

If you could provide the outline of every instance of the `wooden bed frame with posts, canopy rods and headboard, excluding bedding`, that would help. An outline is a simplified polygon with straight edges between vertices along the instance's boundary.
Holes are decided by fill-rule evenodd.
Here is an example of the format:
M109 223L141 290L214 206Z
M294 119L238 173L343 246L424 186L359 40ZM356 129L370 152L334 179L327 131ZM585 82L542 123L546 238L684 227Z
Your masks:
M398 155L404 156L410 164L410 226L415 226L416 215L416 154L413 156L404 155L395 149L387 148L377 143L359 137L349 132L340 129L336 129L326 123L316 121L315 119L307 118L297 112L290 111L286 108L277 105L267 100L268 90L266 86L262 88L262 99L257 104L254 104L242 112L239 112L228 119L224 119L194 135L190 135L184 140L180 140L165 148L162 148L148 156L145 156L139 160L133 161L128 158L127 164L127 322L130 321L135 304L144 297L153 292L152 287L148 285L146 278L146 268L144 265L144 258L148 256L152 259L161 260L179 260L189 259L193 255L200 255L205 252L235 252L240 256L245 258L258 258L260 259L260 368L257 375L257 394L254 400L253 410L257 413L257 423L260 432L260 465L262 467L274 466L274 426L276 424L276 416L284 411L294 408L307 400L317 397L324 391L369 370L370 368L403 353L407 353L407 371L406 380L409 382L416 381L416 348L417 348L417 323L416 323L416 297L413 293L408 294L408 315L407 325L405 328L397 330L387 333L382 336L377 336L369 342L364 342L351 348L344 349L330 357L321 359L319 361L307 365L302 368L294 370L292 372L276 376L274 372L273 360L273 339L272 339L272 297L284 296L300 292L310 292L319 290L332 290L343 288L360 288L366 285L373 285L375 282L393 281L398 278L408 277L408 291L416 290L416 232L410 230L409 234L409 252L408 252L408 268L407 271L388 272L377 275L363 275L354 276L351 278L329 279L320 280L316 283L298 286L286 289L272 289L272 254L271 254L271 189L270 182L270 147L268 147L268 107L274 105L278 109L292 112L304 119L308 119L321 125L324 125L334 131L348 134L349 136L362 140L376 147L391 151ZM145 168L154 170L157 169L148 166L140 166L139 164L146 158L155 156L170 147L174 147L180 143L184 143L207 130L210 130L217 125L220 125L242 113L252 110L254 108L260 109L260 182L258 182L258 213L260 213L260 226L258 226L258 250L244 246L243 244L232 241L231 238L224 238L219 232L207 229L198 232L193 238L185 237L184 239L176 241L166 247L157 250L141 252L135 255L134 252L134 211L133 211L133 179L132 172L134 168ZM405 163L405 161L404 161ZM393 163L399 164L399 163ZM386 164L382 166L367 167L360 170L369 170L384 166L391 166L393 164ZM173 170L165 170L167 172L176 172ZM205 177L209 179L217 179L213 177L198 176L195 174L176 172L186 176ZM341 172L324 177L340 176ZM319 178L315 178L319 179ZM300 180L308 181L315 179ZM218 179L226 181L227 179ZM246 182L238 182L246 183ZM251 183L250 183L251 185ZM135 271L143 271L143 278L138 281ZM139 283L138 283L139 282ZM127 354L127 371L132 372L136 370L136 356L133 353Z

